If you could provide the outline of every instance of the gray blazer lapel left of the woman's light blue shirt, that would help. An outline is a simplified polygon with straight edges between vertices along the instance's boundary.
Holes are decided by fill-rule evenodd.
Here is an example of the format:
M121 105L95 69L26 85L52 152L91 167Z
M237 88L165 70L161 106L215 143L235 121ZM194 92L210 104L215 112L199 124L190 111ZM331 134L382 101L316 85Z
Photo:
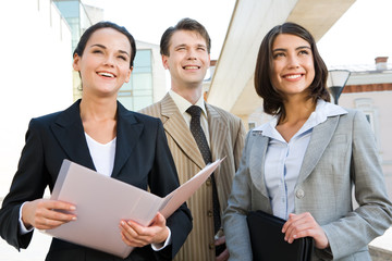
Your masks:
M261 192L262 196L268 198L267 186L264 179L264 171L265 171L265 160L266 152L268 147L269 138L267 136L262 136L261 132L252 132L254 137L252 138L249 145L252 145L249 152L249 173L255 187ZM247 153L247 151L244 151ZM262 157L260 159L260 157Z

